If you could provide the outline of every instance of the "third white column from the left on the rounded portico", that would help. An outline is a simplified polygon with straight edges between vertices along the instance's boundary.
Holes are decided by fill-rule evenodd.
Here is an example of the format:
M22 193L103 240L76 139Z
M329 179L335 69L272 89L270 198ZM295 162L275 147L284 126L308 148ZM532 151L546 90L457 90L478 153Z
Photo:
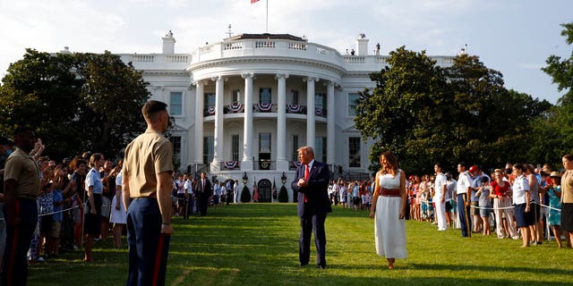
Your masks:
M241 171L252 171L252 72L243 73L244 78L244 131L243 161Z

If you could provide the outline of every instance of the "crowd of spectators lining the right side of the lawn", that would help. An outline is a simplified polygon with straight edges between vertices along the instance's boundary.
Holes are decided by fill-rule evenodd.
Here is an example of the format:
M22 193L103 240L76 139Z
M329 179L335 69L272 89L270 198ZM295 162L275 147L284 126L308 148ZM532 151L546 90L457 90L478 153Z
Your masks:
M540 245L548 239L555 240L559 248L563 246L560 230L560 177L564 170L552 171L549 164L534 166L508 163L504 168L483 172L477 165L470 166L466 171L466 164L461 164L464 165L463 171L459 170L458 166L458 175L467 175L471 184L467 204L470 206L468 223L472 233L485 236L494 233L498 239L523 240L526 241L523 247ZM441 169L439 165L436 167ZM528 223L526 227L517 225L520 214L516 214L516 205L519 204L514 198L523 194L518 193L520 190L517 188L516 179L519 177L517 173L521 173L519 170L516 172L516 167L523 169L523 178L526 179L526 189L529 193L528 200L531 202L526 215L531 216L533 223ZM440 187L436 189L439 175L444 176L444 181L438 181ZM450 229L459 229L461 223L456 199L457 183L458 176L454 176L452 172L409 175L406 181L408 191L406 219L438 224L437 212L440 211L440 208L436 207L436 190L438 190L438 199L444 204L445 225ZM373 189L373 178L361 181L338 179L330 181L329 197L333 205L367 211L372 204ZM445 229L446 227L439 228L439 231ZM565 238L568 239L569 235L566 234ZM566 240L566 242L570 248L571 241Z

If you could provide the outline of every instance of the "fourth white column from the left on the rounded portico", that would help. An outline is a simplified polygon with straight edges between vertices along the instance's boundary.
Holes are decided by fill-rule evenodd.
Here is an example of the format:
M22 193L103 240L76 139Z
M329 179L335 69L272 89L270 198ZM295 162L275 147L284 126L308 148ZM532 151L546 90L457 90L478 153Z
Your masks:
M286 161L286 79L288 74L277 74L277 170L287 171Z

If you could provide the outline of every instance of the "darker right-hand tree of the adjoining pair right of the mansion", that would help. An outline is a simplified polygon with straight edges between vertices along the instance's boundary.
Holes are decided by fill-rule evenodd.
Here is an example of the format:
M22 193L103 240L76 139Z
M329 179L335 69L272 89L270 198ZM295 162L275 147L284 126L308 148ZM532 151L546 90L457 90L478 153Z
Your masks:
M499 167L507 161L529 162L535 133L529 122L552 106L524 93L504 88L500 71L487 68L477 56L458 55L447 75L454 95L453 156L459 161Z

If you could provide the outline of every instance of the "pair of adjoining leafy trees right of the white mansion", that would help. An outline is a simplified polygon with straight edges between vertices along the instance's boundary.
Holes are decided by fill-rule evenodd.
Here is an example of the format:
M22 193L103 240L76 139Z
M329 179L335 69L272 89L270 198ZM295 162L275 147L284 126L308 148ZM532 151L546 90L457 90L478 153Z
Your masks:
M502 74L477 56L458 55L440 68L402 46L388 63L371 75L376 88L364 90L356 107L356 128L377 140L371 170L386 149L415 173L432 172L434 163L455 170L460 161L492 167L526 158L533 136L527 122L551 107L508 91Z

